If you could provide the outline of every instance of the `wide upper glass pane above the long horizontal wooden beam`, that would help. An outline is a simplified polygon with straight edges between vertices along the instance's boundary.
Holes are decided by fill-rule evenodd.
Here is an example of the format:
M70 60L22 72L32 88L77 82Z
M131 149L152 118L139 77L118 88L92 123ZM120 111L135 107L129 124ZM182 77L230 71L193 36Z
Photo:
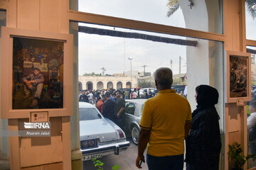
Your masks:
M78 4L82 12L223 33L222 1L219 0L80 0Z

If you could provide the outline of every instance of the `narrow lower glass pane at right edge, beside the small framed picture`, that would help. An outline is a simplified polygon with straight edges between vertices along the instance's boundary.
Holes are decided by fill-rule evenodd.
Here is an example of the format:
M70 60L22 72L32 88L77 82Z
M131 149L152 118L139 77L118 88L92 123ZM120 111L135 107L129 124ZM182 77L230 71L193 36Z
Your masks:
M252 101L247 103L247 132L248 132L248 154L256 154L256 47L247 46L247 52L252 53ZM249 160L248 168L256 167L256 160Z

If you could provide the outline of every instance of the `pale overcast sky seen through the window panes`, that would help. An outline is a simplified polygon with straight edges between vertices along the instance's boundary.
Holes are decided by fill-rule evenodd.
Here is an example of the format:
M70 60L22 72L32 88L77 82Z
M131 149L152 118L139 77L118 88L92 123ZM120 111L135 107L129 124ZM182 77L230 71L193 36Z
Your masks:
M79 11L186 28L181 8L170 18L166 17L168 10L166 1L80 0ZM247 38L256 40L256 35L253 33L253 30L256 28L255 21L249 16L247 17L246 24ZM80 26L186 39L174 35L85 23L80 23ZM91 72L100 74L102 73L102 67L106 69L105 74L128 72L131 69L130 60L128 60L129 57L133 58L132 70L143 72L144 67L142 66L146 65L146 72L153 73L159 67L171 67L172 60L173 72L174 74L178 74L179 56L182 59L181 73L186 73L186 46L184 45L79 33L79 75Z

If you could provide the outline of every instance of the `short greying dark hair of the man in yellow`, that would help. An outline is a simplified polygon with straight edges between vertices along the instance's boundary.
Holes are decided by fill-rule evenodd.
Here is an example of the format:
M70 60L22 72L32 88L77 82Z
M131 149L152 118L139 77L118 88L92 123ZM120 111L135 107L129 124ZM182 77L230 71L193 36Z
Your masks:
M170 88L173 83L172 75L171 69L161 67L156 69L156 72L154 72L154 79L159 86L163 88Z

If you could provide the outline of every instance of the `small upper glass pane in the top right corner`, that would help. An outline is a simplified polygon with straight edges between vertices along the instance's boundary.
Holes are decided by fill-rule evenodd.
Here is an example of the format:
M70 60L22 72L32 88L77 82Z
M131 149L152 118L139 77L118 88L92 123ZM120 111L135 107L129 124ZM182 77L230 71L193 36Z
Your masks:
M245 27L246 38L249 40L256 40L256 4L254 1L245 1Z

